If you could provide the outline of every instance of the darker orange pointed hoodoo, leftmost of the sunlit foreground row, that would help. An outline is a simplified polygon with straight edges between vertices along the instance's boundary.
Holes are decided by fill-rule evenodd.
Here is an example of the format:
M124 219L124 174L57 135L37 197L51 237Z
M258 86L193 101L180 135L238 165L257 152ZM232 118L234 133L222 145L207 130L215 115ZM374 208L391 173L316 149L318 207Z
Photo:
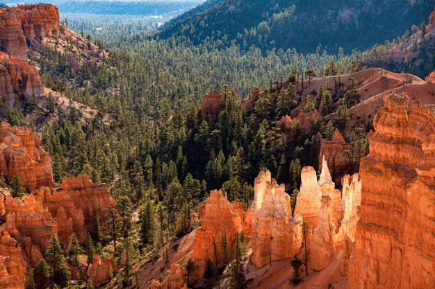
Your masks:
M217 259L220 265L228 264L231 256L234 256L236 234L243 229L240 216L233 211L227 196L221 191L211 191L210 198L201 205L198 214L202 223L195 234L191 255L193 261L197 264L204 262L204 269L206 260L215 263ZM226 247L222 244L222 238L227 240Z

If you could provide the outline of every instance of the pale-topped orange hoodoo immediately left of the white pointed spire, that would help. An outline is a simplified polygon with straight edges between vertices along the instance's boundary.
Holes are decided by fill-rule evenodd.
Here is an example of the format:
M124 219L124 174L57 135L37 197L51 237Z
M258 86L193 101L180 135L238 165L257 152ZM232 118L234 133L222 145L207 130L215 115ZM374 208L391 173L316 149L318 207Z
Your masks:
M254 183L252 216L252 263L256 268L270 261L292 258L302 241L301 216L292 218L290 196L284 184L261 172Z

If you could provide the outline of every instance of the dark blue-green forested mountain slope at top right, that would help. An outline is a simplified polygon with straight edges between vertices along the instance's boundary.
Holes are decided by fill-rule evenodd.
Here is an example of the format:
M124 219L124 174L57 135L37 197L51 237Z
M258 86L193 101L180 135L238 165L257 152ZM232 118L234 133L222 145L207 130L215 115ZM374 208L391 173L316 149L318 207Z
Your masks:
M218 2L218 3L216 3ZM213 3L213 7L209 8ZM421 24L434 0L223 0L208 1L165 24L158 37L186 36L195 44L222 40L298 51L367 49ZM400 21L397 21L399 20ZM226 36L225 36L226 35Z

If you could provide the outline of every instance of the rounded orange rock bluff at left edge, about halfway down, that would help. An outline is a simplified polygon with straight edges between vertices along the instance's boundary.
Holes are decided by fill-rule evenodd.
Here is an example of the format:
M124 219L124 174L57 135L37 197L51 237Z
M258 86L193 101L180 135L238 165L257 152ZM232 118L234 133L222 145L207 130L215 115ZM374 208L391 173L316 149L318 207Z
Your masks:
M19 176L28 191L40 186L54 186L51 158L40 146L40 139L29 128L0 129L0 173L7 179Z

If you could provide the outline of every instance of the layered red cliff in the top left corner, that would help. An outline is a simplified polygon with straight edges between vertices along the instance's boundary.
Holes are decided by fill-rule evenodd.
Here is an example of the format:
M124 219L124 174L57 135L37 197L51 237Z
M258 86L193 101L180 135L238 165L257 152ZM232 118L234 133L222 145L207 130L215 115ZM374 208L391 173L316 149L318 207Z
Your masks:
M49 4L0 8L0 96L7 107L15 104L14 92L30 99L44 94L38 69L26 60L26 40L38 45L59 30L59 12ZM5 53L6 52L6 53Z

